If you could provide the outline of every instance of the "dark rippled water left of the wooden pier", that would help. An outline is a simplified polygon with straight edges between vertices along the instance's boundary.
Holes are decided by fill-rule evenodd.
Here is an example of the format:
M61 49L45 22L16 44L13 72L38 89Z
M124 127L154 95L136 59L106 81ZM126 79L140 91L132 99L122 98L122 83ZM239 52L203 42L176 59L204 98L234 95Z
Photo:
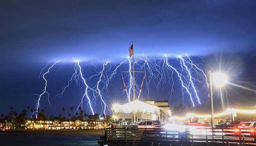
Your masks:
M0 134L0 146L98 146L99 135Z

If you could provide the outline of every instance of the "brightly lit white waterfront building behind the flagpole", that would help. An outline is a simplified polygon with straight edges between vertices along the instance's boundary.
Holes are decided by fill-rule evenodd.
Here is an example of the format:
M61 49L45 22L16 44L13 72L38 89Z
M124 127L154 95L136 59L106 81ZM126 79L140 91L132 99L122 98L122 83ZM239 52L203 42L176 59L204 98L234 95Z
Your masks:
M167 100L145 100L145 102L135 100L123 105L112 105L112 117L117 125L128 125L134 121L133 111L135 110L135 121L162 120L166 123L170 116L170 106ZM161 113L162 112L162 113ZM163 118L163 114L166 117Z

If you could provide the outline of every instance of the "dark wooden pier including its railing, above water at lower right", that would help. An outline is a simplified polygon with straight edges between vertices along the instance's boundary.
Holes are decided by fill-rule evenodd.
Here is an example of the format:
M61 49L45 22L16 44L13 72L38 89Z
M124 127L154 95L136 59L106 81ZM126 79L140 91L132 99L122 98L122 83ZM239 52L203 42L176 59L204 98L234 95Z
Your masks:
M255 128L191 128L183 131L163 128L107 128L102 141L98 144L108 146L143 145L143 146L221 146L255 145Z

